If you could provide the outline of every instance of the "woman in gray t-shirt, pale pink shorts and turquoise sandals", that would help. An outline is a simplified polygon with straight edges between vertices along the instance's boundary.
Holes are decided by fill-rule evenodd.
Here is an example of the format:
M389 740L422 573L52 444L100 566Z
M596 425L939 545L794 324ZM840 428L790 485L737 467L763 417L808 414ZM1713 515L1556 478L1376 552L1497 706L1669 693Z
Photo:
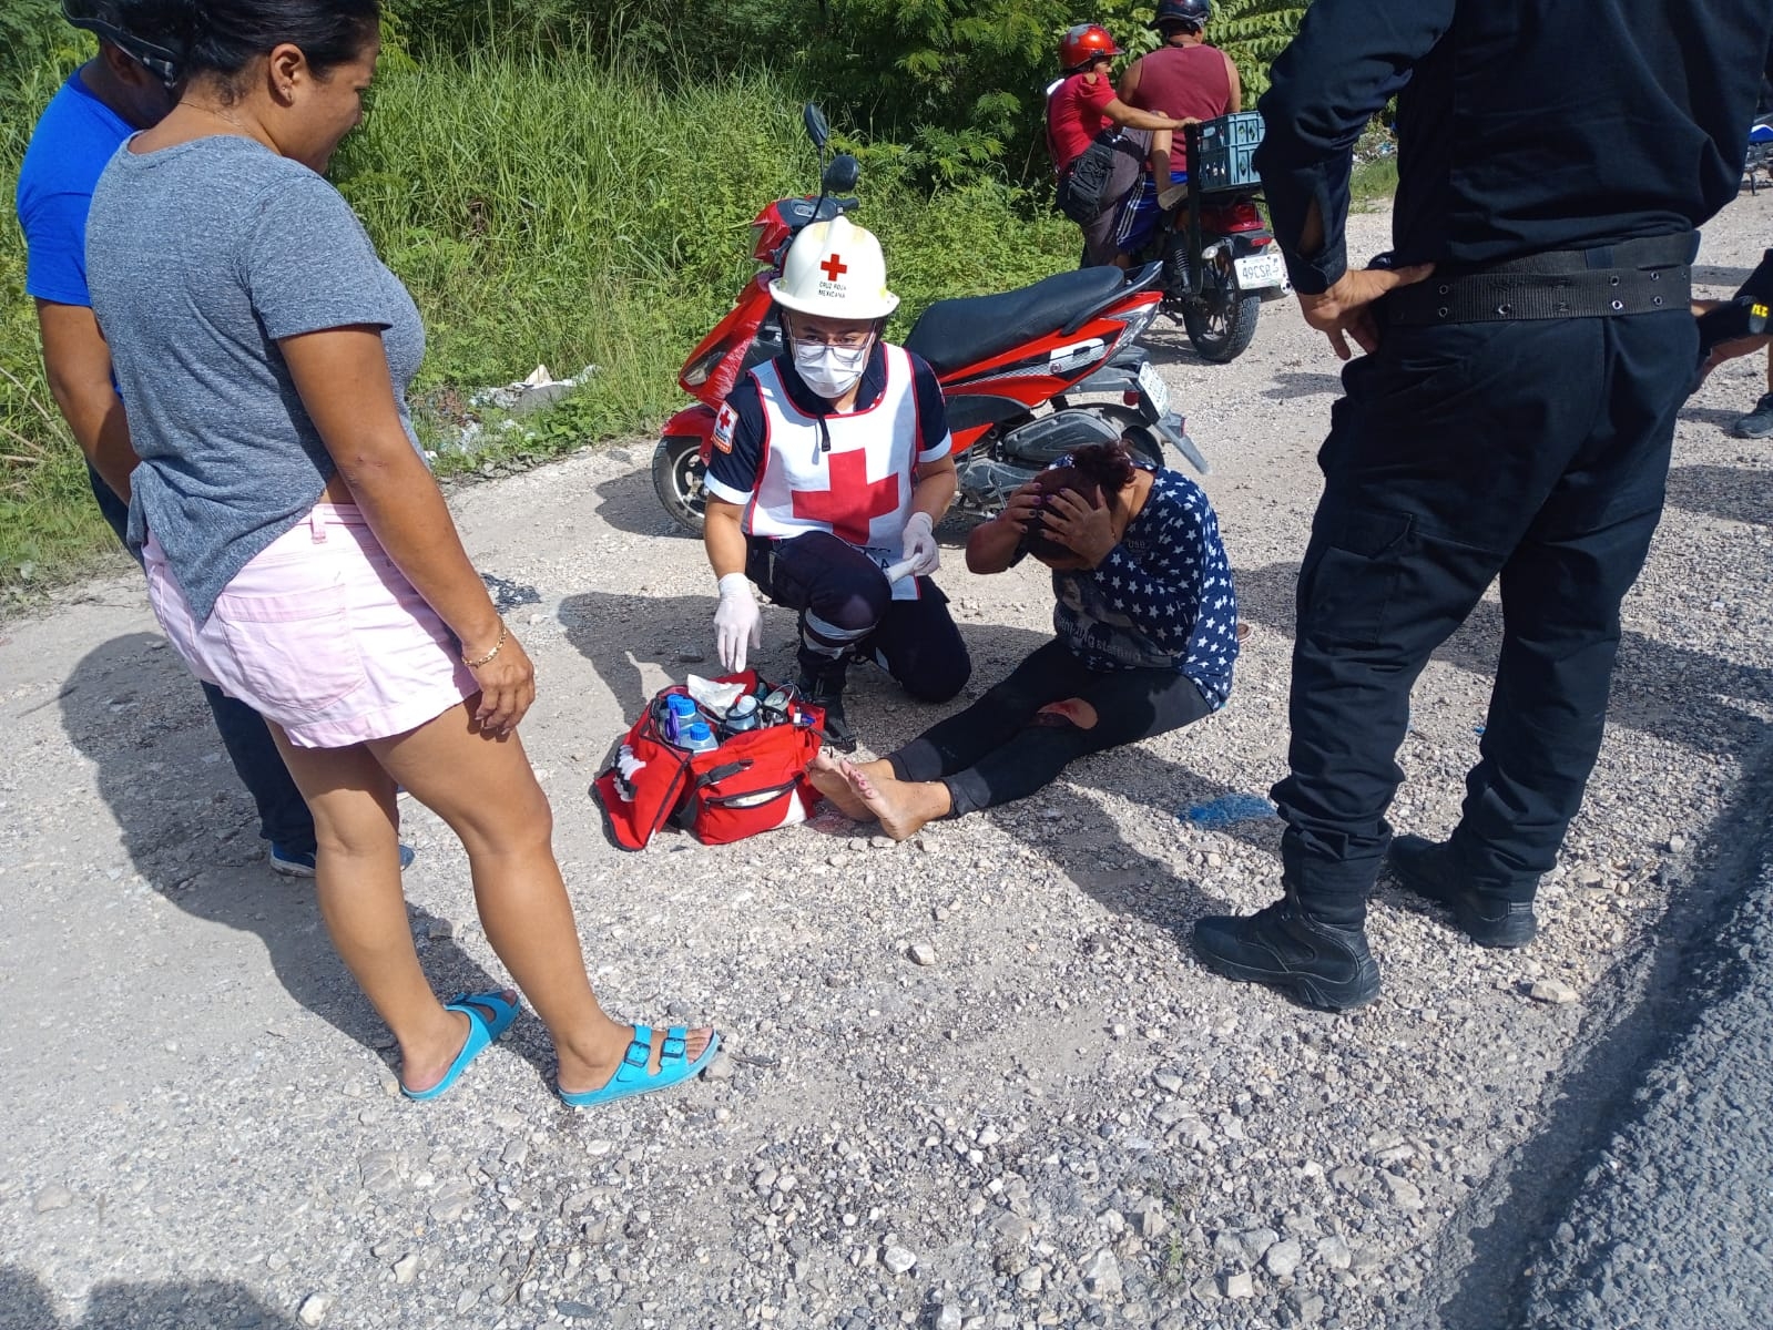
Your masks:
M321 179L362 119L374 0L186 7L181 103L112 160L87 268L140 465L129 539L204 679L271 722L314 810L333 943L401 1044L411 1098L514 1020L440 1004L413 951L401 784L461 837L486 936L546 1021L558 1091L594 1105L707 1064L709 1029L610 1020L590 991L518 722L528 656L461 548L402 394L406 289Z

